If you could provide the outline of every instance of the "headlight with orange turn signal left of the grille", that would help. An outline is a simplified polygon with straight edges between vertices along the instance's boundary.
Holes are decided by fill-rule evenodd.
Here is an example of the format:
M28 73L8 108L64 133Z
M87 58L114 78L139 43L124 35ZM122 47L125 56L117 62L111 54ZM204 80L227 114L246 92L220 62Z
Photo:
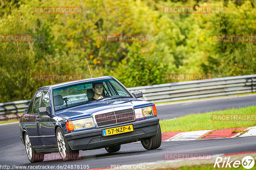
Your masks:
M66 123L68 131L80 130L95 127L92 117L85 119L78 119L73 121L68 121Z

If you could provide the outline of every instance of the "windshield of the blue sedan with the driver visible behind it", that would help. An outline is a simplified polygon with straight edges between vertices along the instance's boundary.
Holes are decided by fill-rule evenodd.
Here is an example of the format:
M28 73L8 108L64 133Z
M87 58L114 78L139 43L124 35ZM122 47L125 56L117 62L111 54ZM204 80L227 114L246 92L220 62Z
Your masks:
M115 80L90 81L53 89L55 111L81 104L131 97Z

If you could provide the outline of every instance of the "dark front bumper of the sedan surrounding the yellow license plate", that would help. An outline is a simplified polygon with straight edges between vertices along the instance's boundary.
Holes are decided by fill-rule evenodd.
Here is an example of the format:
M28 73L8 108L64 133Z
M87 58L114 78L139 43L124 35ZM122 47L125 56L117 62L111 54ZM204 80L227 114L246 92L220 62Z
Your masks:
M110 136L102 136L102 130L132 124L133 131ZM88 150L136 142L156 134L159 118L153 117L136 122L118 124L114 126L97 128L85 131L71 132L65 134L68 144L73 150Z

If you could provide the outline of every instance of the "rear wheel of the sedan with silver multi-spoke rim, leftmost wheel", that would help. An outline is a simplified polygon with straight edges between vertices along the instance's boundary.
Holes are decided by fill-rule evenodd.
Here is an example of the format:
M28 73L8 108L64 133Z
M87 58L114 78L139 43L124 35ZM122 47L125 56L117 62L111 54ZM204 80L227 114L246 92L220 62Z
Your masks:
M36 150L33 148L33 145L30 142L27 132L24 134L24 144L25 144L28 160L31 163L42 162L44 160L44 154L37 153Z

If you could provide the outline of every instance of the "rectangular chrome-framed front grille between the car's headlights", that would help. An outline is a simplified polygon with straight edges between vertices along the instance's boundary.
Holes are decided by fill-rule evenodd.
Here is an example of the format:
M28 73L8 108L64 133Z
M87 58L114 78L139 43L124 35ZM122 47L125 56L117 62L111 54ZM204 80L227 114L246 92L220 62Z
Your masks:
M95 120L99 127L128 122L134 120L134 111L133 109L125 109L103 113L95 115Z

